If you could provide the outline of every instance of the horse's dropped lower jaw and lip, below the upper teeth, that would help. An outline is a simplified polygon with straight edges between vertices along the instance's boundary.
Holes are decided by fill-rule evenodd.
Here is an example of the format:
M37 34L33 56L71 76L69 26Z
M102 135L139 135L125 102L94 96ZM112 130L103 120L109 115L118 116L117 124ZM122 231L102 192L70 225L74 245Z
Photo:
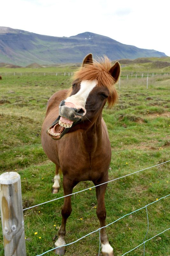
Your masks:
M60 116L58 116L53 124L51 124L46 130L47 134L54 140L60 140L65 133L67 133L75 124L81 121L81 119L79 119L77 122L73 122L70 127L64 127L59 124L59 120Z

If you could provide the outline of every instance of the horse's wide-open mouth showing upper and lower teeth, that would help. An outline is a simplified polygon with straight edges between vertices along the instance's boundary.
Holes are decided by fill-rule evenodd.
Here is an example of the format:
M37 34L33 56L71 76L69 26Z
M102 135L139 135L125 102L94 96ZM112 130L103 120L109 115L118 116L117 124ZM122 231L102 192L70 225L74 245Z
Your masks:
M73 122L65 117L58 116L57 119L51 124L46 132L54 140L60 140L64 134L66 134L71 127L79 123L81 119L77 122Z

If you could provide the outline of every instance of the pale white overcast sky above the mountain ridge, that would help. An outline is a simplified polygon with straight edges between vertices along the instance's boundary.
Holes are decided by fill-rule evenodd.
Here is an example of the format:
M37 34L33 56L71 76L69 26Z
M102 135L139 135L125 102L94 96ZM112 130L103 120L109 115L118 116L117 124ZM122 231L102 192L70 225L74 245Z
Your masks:
M2 0L0 26L48 36L92 32L170 56L170 1Z

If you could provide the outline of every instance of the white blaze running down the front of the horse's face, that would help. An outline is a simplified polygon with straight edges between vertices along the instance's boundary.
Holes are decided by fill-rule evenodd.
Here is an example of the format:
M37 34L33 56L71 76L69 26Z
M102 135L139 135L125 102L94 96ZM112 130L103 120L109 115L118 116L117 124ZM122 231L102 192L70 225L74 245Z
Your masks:
M80 90L68 97L66 99L66 106L67 104L69 104L70 102L74 104L74 106L78 109L78 108L84 108L85 104L86 104L86 100L89 96L89 93L93 90L93 88L96 86L97 84L97 80L93 80L93 81L89 81L89 80L84 80L81 82L80 84ZM79 106L78 106L79 105Z

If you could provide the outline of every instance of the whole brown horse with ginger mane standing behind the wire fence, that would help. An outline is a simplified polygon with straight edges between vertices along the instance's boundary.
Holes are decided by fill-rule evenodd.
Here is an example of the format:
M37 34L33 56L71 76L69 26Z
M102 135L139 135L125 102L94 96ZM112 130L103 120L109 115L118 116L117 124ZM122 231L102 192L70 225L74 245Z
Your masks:
M90 53L75 72L72 88L56 92L48 100L41 141L46 155L56 165L53 193L57 193L60 187L59 168L63 173L64 195L72 194L74 186L80 181L92 180L95 185L108 181L111 147L102 110L106 102L112 106L117 101L114 84L119 75L118 62L112 66L107 57L100 63L93 62ZM100 227L105 226L106 187L107 183L96 187L96 214ZM64 253L66 221L71 211L71 196L66 196L55 242L56 247L63 245L62 249L56 249L60 255ZM113 256L106 228L100 231L103 255Z

